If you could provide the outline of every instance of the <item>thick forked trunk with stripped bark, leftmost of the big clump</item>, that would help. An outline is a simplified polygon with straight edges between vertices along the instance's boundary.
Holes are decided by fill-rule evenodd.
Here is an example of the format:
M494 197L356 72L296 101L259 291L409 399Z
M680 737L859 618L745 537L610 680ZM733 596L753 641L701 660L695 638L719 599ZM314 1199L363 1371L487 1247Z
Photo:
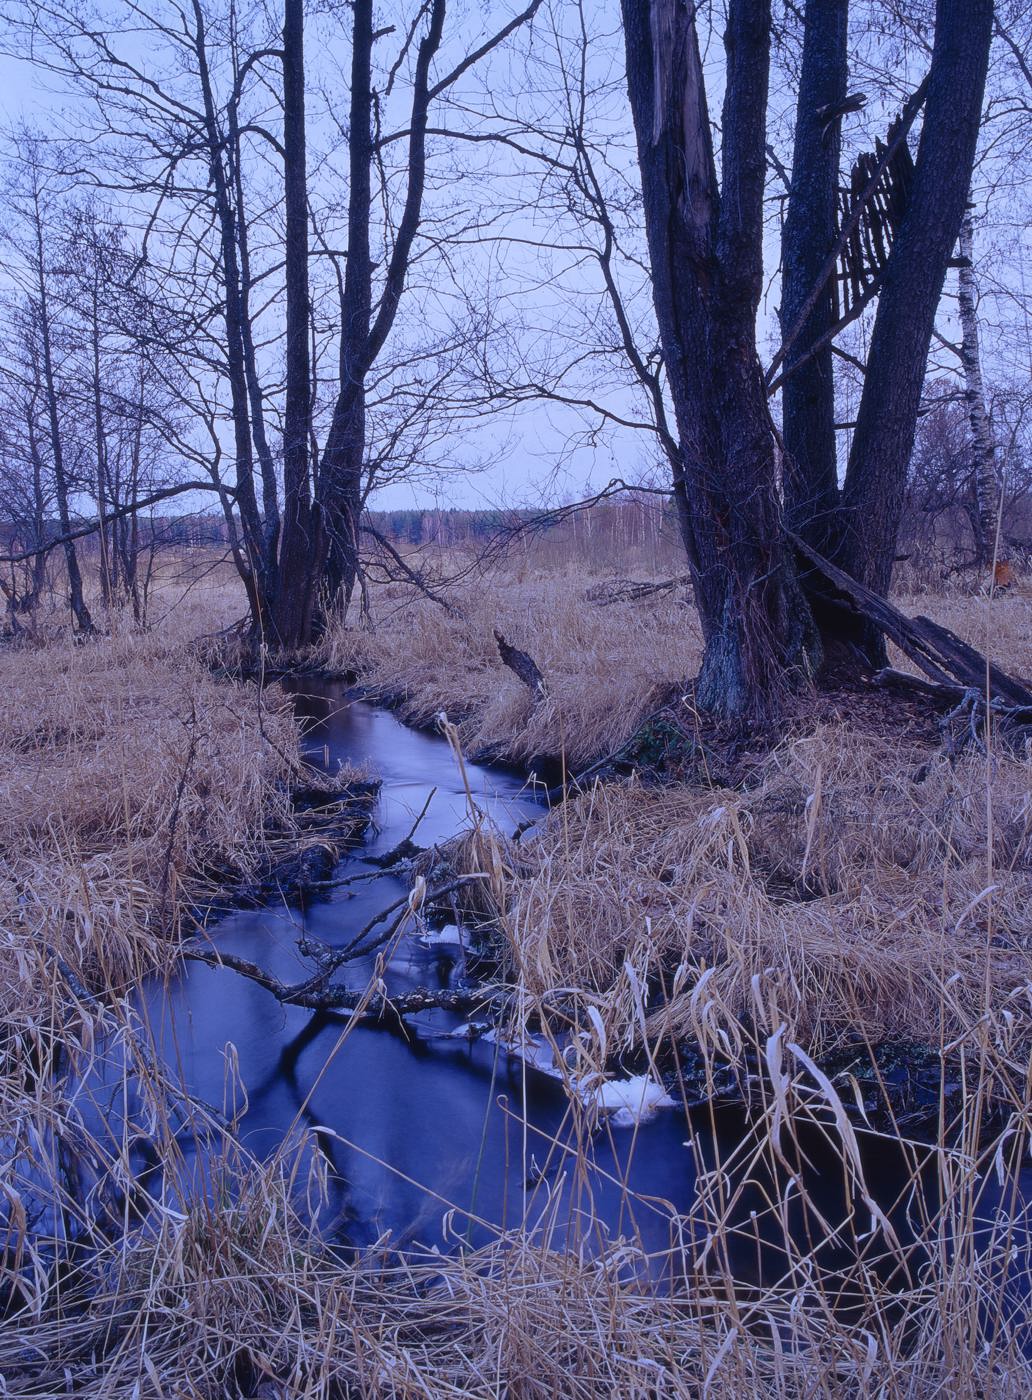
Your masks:
M683 462L679 519L706 650L704 708L769 718L809 665L781 536L777 447L756 354L770 6L728 11L718 190L695 20L622 0L660 337Z

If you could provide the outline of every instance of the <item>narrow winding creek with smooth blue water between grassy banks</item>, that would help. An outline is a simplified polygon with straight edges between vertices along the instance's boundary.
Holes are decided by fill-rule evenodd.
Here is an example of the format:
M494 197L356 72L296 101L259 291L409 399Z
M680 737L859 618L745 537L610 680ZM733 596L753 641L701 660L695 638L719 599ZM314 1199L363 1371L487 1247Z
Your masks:
M374 826L344 857L337 878L374 871L370 857L391 851L428 799L416 834L420 846L462 829L466 794L442 738L409 729L333 685L304 682L295 704L312 762L332 771L339 763L361 763L382 781ZM541 811L512 773L470 763L468 780L477 806L503 830ZM312 972L298 952L301 934L340 946L407 888L400 875L382 871L337 885L304 910L280 903L232 913L211 937L217 948L297 981ZM463 969L455 939L405 935L384 980L391 994L444 988L455 986ZM374 974L372 959L343 969L356 988ZM588 1250L623 1236L654 1260L639 1263L637 1271L644 1267L658 1281L672 1267L672 1246L683 1242L685 1218L695 1212L689 1228L699 1229L700 1165L725 1159L749 1131L742 1109L707 1105L688 1113L667 1107L627 1126L604 1117L585 1142L574 1137L562 1082L493 1040L455 1035L461 1018L442 1011L409 1018L405 1033L349 1028L347 1016L284 1007L232 970L200 963L189 963L169 984L147 987L141 1011L183 1088L210 1103L228 1099L239 1113L239 1140L255 1158L269 1158L300 1131L312 1133L332 1163L321 1219L335 1238L358 1247L386 1235L392 1246L448 1249L514 1228L548 1231L556 1246ZM899 1236L913 1238L907 1221L921 1193L898 1151L877 1137L861 1135L860 1144L871 1196ZM823 1266L849 1270L863 1253L870 1212L854 1211L829 1135L815 1130L802 1148L804 1194L835 1226L821 1249ZM773 1183L762 1169L753 1176L734 1212L741 1232L724 1247L732 1273L759 1284L777 1277L784 1259L774 1245L780 1228L769 1232L762 1224ZM1022 1179L1026 1184L1026 1173ZM773 1187L774 1198L783 1190L784 1183ZM926 1191L927 1208L937 1194L931 1166ZM812 1218L795 1214L798 1194L790 1203L784 1191L784 1210L805 1235ZM987 1183L983 1219L993 1218L998 1200ZM1025 1267L1026 1256L1024 1243ZM893 1267L885 1261L889 1274ZM1024 1285L1019 1291L1028 1296Z

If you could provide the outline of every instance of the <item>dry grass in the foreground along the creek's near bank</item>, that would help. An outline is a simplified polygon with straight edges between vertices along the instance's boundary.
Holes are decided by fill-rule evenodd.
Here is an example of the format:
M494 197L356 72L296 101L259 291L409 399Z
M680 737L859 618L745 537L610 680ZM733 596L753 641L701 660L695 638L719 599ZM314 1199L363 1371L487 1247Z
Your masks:
M741 1145L703 1172L692 1211L671 1218L667 1259L646 1260L633 1228L580 1252L553 1247L545 1228L511 1231L475 1252L342 1259L298 1212L298 1203L319 1198L318 1161L300 1168L294 1145L259 1168L242 1161L227 1135L221 1149L216 1142L220 1190L210 1200L165 1191L161 1210L115 1239L90 1218L92 1201L73 1217L88 1246L76 1267L56 1273L45 1249L24 1260L34 1267L22 1271L21 1308L0 1330L8 1393L27 1400L1026 1394L1032 1366L1021 1327L1012 1326L1028 1287L1026 1225L987 1215L984 1183L994 1168L1012 1177L1028 1110L1015 1112L982 1152L966 1142L910 1149L910 1176L905 1170L899 1183L900 1198L912 1200L902 1238L899 1224L871 1205L864 1165L839 1144L840 1187L856 1204L842 1224L835 1217L835 1229L854 1257L829 1277L822 1252L835 1182L815 1182L795 1163L812 1151L815 1133L833 1141L822 1124L842 1105L833 1089L815 1103L784 1036L769 1051L760 1061L765 1106ZM132 1060L127 1068L140 1071ZM972 1109L976 1100L973 1082ZM43 1126L66 1134L67 1151L74 1116L63 1107ZM35 1116L39 1124L39 1107ZM148 1134L165 1162L175 1161L168 1096L153 1078L132 1127ZM699 1128L686 1131L695 1138ZM76 1147L106 1151L109 1176L129 1166L109 1144L80 1137ZM889 1141L884 1149L895 1151ZM587 1169L590 1152L585 1135L569 1162L571 1175ZM920 1187L928 1156L941 1194ZM8 1165L4 1184L11 1176ZM626 1194L630 1221L633 1208L655 1208ZM749 1210L751 1201L758 1208ZM548 1219L548 1201L538 1214ZM588 1214L583 1224L591 1238L597 1222ZM748 1273L741 1278L760 1231L783 1249L780 1268L762 1287ZM667 1275L658 1296L633 1281L647 1263Z

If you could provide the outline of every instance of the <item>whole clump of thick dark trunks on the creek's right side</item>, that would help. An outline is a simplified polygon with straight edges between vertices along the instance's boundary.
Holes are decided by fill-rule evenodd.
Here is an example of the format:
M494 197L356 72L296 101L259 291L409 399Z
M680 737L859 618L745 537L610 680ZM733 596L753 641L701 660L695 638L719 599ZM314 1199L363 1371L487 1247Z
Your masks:
M924 365L968 197L989 64L991 3L940 3L927 77L843 209L847 20L847 0L805 11L783 234L781 323L791 360L779 381L781 451L756 353L770 6L728 7L718 179L692 11L675 0L623 0L655 314L679 438L674 491L706 634L696 693L704 708L748 720L769 718L830 658L885 662L884 630L867 598L885 598L892 577ZM902 150L919 108L924 123L910 171ZM842 489L832 370L840 259L847 312L878 290ZM865 259L874 263L870 277ZM840 588L829 588L825 556L865 591L853 594L850 608Z

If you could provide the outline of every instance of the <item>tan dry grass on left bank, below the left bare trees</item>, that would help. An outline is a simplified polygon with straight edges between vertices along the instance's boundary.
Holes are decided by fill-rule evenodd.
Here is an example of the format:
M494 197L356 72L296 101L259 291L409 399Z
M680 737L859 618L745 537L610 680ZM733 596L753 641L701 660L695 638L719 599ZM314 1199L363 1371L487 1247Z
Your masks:
M298 766L286 697L213 680L175 637L119 634L0 654L0 995L46 988L29 949L90 986L132 984L175 956L181 896L248 871L288 820Z

